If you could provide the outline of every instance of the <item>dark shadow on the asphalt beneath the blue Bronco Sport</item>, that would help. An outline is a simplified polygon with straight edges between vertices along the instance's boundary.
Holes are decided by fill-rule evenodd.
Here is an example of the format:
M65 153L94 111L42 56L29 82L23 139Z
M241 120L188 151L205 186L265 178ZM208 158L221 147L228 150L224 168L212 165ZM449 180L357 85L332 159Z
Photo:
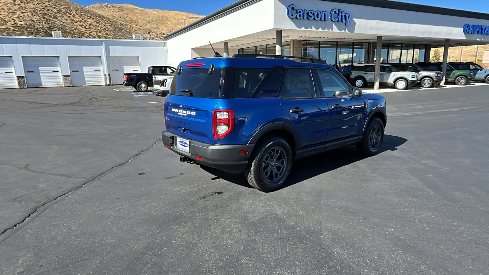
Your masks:
M404 144L407 141L405 138L397 137L397 136L384 136L384 142L382 144L382 148L379 154L382 154L386 151L396 151L397 147ZM334 157L332 157L334 156ZM315 176L321 175L323 173L327 173L329 171L333 171L342 166L346 166L348 164L354 163L359 160L363 160L369 158L368 156L364 156L360 154L356 150L356 146L347 146L344 148L340 148L337 150L329 151L324 154L320 154L317 156L312 156L309 158L297 160L292 164L292 170L290 171L289 178L280 188L275 189L273 191L277 191L283 188L287 188L295 183L300 183L305 180L311 179ZM231 183L235 183L244 187L253 188L246 181L244 177L244 173L241 174L230 174L218 169L200 166L203 170L208 173L216 176L211 180L225 180ZM273 192L272 191L272 192Z

